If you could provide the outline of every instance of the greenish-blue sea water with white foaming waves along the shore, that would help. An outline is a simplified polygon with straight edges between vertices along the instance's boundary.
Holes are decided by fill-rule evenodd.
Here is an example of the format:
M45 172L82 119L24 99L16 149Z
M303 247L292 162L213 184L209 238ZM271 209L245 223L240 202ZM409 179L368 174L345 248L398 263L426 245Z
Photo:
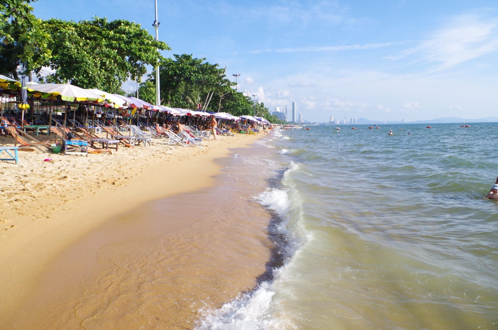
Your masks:
M498 329L498 124L425 126L275 130L267 276L197 328Z

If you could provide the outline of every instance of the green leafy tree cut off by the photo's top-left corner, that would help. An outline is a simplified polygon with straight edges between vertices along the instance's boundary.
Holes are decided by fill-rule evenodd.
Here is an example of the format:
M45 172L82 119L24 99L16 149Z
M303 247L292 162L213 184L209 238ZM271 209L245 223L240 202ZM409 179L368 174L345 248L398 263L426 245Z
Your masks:
M50 35L29 4L35 0L0 0L0 73L18 79L22 73L46 63L51 56Z

